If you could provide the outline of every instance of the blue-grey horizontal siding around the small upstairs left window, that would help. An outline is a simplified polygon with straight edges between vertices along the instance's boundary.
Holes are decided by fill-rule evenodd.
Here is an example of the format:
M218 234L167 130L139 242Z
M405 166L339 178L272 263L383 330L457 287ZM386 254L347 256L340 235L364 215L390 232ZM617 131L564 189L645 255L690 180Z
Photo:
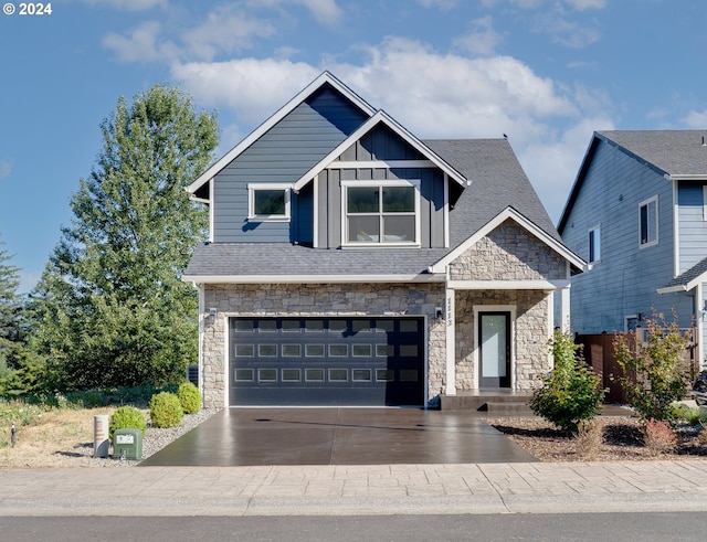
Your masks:
M366 118L362 111L329 87L299 104L215 177L213 241L310 242L310 238L293 238L300 233L300 225L249 222L247 184L294 183ZM292 205L293 215L297 214L298 219L307 209L309 212L313 209L312 201L297 194L293 194ZM312 224L310 219L308 222Z

